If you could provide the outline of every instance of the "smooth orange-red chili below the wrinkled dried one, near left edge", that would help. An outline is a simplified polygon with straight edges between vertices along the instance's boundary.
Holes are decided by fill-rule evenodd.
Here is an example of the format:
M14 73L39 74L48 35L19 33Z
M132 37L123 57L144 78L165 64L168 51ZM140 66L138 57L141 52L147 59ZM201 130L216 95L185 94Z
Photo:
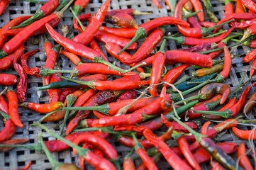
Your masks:
M19 128L23 127L23 123L18 115L18 98L14 91L8 90L6 93L6 98L9 101L8 113L11 117L12 122Z

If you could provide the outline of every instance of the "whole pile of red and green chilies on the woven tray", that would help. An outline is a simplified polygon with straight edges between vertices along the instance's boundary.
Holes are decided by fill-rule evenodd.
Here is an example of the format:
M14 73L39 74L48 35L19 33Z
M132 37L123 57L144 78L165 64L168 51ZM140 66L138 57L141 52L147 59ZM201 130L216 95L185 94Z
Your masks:
M256 1L220 2L217 17L210 0L152 0L170 12L142 24L150 11L111 3L86 13L90 1L50 0L0 29L0 152L43 151L54 169L254 169ZM62 24L68 11L72 26ZM31 50L32 38L43 45ZM239 54L242 45L251 50ZM30 62L39 52L41 67ZM237 59L250 72L231 86ZM30 88L45 103L32 101ZM23 111L37 115L33 123ZM16 138L35 126L43 134L33 142ZM121 155L114 143L130 149ZM67 149L79 164L52 157Z

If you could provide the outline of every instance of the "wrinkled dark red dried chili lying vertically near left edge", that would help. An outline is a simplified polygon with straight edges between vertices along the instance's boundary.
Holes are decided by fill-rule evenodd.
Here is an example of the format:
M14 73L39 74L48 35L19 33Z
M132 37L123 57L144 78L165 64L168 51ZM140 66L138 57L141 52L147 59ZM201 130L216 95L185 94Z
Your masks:
M16 56L13 60L13 67L16 70L16 72L18 72L18 74L20 76L20 79L18 80L18 84L17 84L16 94L18 96L19 101L25 102L26 101L26 92L28 90L27 74L26 74L25 70L23 69L23 67L21 67L21 65L17 63L17 58L18 58L18 56Z

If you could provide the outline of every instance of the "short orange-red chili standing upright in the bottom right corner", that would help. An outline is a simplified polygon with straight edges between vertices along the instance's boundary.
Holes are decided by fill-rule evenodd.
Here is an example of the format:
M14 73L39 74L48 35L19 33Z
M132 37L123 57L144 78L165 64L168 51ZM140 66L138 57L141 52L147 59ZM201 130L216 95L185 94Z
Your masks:
M243 167L243 169L252 170L253 169L252 164L250 163L250 160L248 159L246 154L247 153L246 153L246 149L245 149L245 144L243 142L241 142L238 147L239 164L240 164L240 166Z

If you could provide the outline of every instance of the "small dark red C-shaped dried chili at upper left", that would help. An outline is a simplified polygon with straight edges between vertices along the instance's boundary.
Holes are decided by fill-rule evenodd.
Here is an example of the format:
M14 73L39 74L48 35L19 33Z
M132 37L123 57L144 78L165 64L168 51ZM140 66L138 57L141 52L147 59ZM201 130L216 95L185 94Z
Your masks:
M39 51L38 49L35 49L33 51L26 52L25 54L21 55L21 66L23 67L26 74L29 74L34 77L40 77L40 74L39 74L40 68L39 67L30 68L27 64L27 61L28 61L28 57L35 55L35 53L38 51Z

